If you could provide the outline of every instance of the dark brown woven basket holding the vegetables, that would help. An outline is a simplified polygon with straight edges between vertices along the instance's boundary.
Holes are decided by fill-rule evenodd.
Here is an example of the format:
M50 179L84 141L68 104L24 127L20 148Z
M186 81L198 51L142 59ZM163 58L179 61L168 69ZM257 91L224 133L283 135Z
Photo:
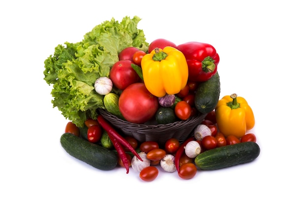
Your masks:
M164 143L170 138L176 138L180 143L192 133L194 128L202 122L207 114L199 114L190 117L187 120L176 121L170 124L136 124L116 117L105 109L98 109L99 113L108 120L115 128L121 130L127 136L133 136L139 142L155 141L159 145Z

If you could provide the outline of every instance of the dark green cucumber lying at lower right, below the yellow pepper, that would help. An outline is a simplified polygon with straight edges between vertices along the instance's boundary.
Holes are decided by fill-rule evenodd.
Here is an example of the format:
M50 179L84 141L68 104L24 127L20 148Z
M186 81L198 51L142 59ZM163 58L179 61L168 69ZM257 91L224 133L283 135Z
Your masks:
M251 162L259 154L258 144L244 142L206 150L195 158L195 164L201 170L217 170Z

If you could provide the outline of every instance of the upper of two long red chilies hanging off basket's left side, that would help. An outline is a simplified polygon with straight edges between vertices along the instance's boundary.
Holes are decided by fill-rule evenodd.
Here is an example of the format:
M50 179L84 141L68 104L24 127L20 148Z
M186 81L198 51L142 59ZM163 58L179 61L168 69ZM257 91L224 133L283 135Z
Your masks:
M97 121L108 134L112 135L120 144L127 147L139 160L143 161L136 150L106 121L104 117L98 115Z

